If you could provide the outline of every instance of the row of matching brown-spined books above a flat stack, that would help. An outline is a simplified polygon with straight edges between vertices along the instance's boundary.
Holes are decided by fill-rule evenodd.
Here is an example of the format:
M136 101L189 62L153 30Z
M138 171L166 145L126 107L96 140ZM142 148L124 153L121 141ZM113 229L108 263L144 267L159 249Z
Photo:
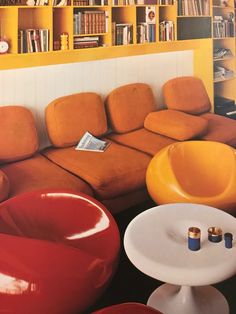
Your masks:
M97 34L108 31L107 11L78 11L74 13L74 34Z

